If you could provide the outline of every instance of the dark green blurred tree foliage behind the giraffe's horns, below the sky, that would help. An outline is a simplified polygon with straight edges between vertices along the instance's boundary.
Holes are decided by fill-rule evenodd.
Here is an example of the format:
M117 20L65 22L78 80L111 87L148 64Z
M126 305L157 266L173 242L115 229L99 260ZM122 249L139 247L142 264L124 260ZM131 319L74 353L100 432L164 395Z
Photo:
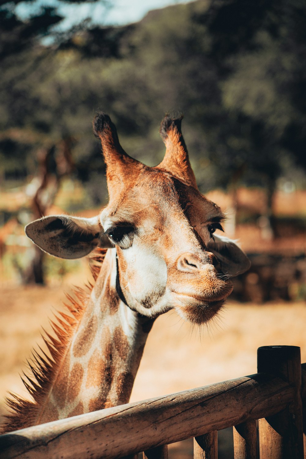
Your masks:
M29 27L7 11L6 39L10 28ZM305 2L198 0L127 27L89 27L50 46L37 37L60 18L42 14L45 22L31 21L27 40L16 32L22 45L7 48L2 60L7 175L14 168L33 174L37 149L69 135L78 178L95 205L104 200L105 168L90 127L97 108L110 113L124 148L149 165L162 158L164 113L183 111L202 191L237 182L271 188L297 165L306 168Z

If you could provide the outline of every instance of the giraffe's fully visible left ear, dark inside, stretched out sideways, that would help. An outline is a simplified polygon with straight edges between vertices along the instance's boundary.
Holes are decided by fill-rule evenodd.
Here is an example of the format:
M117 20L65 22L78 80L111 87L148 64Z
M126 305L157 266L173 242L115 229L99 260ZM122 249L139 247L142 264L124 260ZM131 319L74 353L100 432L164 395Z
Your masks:
M59 258L82 258L95 247L112 247L99 217L52 215L25 227L26 235L44 252Z

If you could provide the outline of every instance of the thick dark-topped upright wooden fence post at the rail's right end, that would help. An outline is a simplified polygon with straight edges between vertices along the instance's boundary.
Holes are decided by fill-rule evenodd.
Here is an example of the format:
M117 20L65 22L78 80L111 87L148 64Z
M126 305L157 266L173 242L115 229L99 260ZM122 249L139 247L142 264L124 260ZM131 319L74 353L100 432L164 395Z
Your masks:
M295 388L288 408L259 420L261 459L303 459L300 348L265 346L257 351L258 373L278 375Z

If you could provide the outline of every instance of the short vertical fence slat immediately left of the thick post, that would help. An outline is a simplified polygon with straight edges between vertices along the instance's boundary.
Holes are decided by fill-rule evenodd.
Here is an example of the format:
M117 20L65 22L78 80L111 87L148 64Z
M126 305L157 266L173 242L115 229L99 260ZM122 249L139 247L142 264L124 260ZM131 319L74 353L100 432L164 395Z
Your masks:
M233 427L234 459L256 459L256 420Z

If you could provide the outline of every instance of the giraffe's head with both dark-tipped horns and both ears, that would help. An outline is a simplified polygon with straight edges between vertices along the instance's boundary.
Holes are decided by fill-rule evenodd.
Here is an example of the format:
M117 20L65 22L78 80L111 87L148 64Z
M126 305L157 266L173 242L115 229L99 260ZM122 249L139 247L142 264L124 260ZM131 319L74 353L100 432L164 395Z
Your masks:
M107 167L107 207L95 218L45 217L28 224L26 233L61 258L114 247L117 291L129 308L150 318L175 308L201 324L231 293L231 276L250 262L234 241L213 234L224 216L197 189L181 118L166 116L160 132L165 157L148 167L125 153L111 119L99 113L94 133Z

